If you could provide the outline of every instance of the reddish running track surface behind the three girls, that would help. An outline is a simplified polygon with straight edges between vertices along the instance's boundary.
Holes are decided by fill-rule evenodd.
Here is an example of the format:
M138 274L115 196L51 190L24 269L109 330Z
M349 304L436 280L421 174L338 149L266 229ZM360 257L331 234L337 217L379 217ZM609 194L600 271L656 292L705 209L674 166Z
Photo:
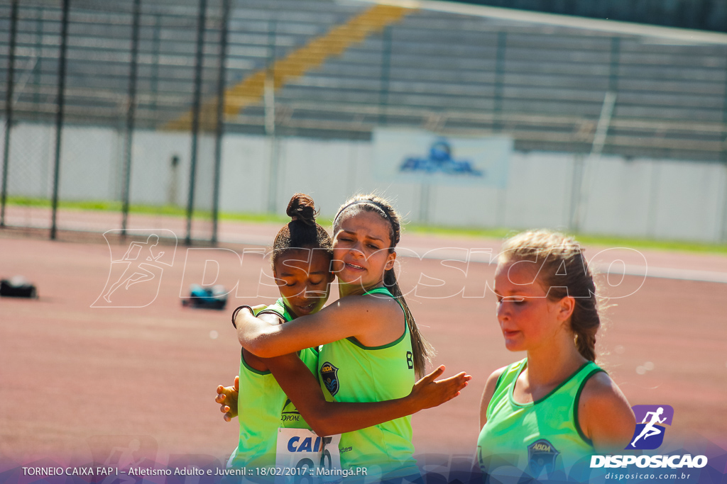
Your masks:
M159 226L158 220L148 223ZM129 240L108 245L101 234L82 241L61 234L51 242L0 230L0 277L23 274L40 295L0 299L0 460L83 464L99 443L126 446L137 438L157 462L202 454L224 463L236 446L237 422L224 422L213 400L217 384L231 384L238 372L240 346L230 311L272 301L277 293L258 283L261 271L269 273L262 255L246 254L241 264L233 252L264 247L277 229L223 224L222 239L252 242L222 245L229 250L218 258L217 282L229 288L239 281L238 295L248 296L230 298L227 311L182 307L180 294L188 294L190 282L201 282L205 260L182 245L159 246L167 256L174 253L171 266L159 266L159 284L142 282L111 296L115 304L145 307L91 307L107 280L119 278L112 254L119 260ZM420 255L441 247L490 247L497 253L499 241L404 234L401 245ZM720 255L643 254L651 266L727 272L727 258ZM486 378L524 355L509 353L502 343L494 296L485 287L494 266L470 263L464 276L446 266L457 263L442 258L403 258L400 279L405 291L419 282L407 300L437 349L433 364L446 364L446 375L465 370L473 380L454 401L414 416L414 444L417 454L472 455ZM214 278L212 269L208 264L206 282ZM437 286L435 279L445 283ZM611 295L627 296L610 300L598 337L599 363L632 405L674 407L662 450L705 438L727 448L727 284L629 275L608 282L616 284L608 287Z

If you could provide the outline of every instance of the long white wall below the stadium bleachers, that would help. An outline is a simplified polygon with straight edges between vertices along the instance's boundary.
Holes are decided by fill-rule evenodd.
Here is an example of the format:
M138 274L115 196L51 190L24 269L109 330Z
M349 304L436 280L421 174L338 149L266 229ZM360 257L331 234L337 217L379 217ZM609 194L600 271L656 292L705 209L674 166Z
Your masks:
M515 152L505 189L431 186L427 210L418 184L377 179L365 141L278 139L275 205L284 213L294 192L313 196L332 216L356 192L393 198L405 218L446 226L568 229L574 210L577 157L567 153ZM186 206L191 137L136 131L132 147L132 204ZM12 131L8 194L52 194L52 126L20 124ZM2 139L0 136L0 153ZM230 134L222 142L220 210L260 213L270 196L270 140ZM176 176L171 159L180 157ZM124 136L108 128L66 127L60 171L62 200L119 200ZM212 208L214 139L201 136L195 206ZM602 157L587 171L582 231L657 239L720 242L727 238L727 166L675 160ZM174 197L176 195L176 197Z

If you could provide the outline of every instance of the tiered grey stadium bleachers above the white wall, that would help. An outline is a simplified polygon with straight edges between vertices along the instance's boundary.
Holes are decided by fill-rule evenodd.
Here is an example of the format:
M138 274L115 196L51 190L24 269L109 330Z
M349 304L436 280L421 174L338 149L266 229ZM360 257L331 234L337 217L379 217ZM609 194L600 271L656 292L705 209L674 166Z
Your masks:
M137 127L169 129L190 112L198 4L141 2ZM363 41L342 39L342 52L332 54L330 43L324 47L321 39L364 15L372 4L233 0L228 19L221 18L220 0L206 4L201 69L206 102L217 97L225 20L228 94L271 66L282 70L283 61L287 69L300 70L302 75L276 78L280 136L369 139L376 126L406 126L505 133L521 151L587 153L606 92L613 91L616 102L604 153L727 160L727 42L685 43L590 30L587 20L584 28L502 20L477 15L476 7L471 15L421 8L407 9L395 20L374 20L377 25ZM9 0L0 2L2 110L9 11ZM71 2L67 123L123 125L132 12L132 0ZM13 99L17 121L54 120L60 19L60 1L20 2ZM315 42L321 45L319 55L314 55ZM303 55L299 51L306 46L313 47ZM227 113L226 132L265 133L258 91Z

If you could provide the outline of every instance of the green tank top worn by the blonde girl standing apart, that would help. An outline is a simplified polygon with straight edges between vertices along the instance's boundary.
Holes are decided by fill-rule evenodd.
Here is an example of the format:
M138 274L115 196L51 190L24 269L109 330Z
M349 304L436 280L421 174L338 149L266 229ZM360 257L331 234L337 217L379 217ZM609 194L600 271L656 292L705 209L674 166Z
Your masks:
M507 366L497 380L477 440L478 462L495 478L515 467L521 477L565 482L573 472L587 471L593 454L578 424L578 400L587 380L603 370L589 361L545 397L518 403L513 390L526 364L527 358Z

